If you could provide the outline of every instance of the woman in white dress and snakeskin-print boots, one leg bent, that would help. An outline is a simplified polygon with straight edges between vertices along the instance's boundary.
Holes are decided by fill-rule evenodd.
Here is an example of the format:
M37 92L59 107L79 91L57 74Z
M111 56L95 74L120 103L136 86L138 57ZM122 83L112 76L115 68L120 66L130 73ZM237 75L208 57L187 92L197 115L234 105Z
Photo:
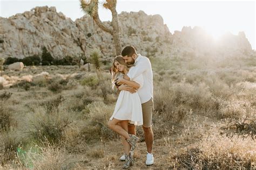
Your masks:
M133 67L131 67L130 70L131 69L133 69ZM123 83L136 89L143 86L144 81L142 75L130 81L123 78L123 76L129 72L129 68L127 68L127 64L122 56L118 55L114 58L111 70L112 83L116 84L116 86L120 86L120 84ZM125 152L125 164L123 168L129 168L130 165L132 165L135 144L136 141L139 141L138 137L128 133L128 123L143 125L142 104L140 103L137 92L132 94L129 91L122 90L119 93L116 107L114 108L113 115L108 125L110 129L121 135Z

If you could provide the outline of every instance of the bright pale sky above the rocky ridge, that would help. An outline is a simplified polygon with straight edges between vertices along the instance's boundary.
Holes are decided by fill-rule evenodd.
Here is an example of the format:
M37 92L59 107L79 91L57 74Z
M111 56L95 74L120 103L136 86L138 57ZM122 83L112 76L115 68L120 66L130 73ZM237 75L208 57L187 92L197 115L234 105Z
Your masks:
M100 0L101 1L101 0ZM84 16L79 0L0 0L0 16L10 17L30 11L35 6L55 6L57 12L76 20ZM143 10L147 15L159 14L171 33L183 26L200 26L215 39L226 32L237 35L244 31L252 48L256 49L256 2L255 1L146 1L118 0L117 12ZM102 20L111 20L111 12L99 8Z

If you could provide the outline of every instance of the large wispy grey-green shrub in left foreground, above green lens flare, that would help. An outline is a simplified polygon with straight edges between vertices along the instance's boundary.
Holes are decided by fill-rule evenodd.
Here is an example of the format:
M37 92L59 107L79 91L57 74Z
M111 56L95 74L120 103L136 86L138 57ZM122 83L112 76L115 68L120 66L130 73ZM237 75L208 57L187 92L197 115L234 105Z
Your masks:
M49 114L43 108L37 108L31 123L32 137L41 144L49 141L50 144L60 144L65 139L65 129L72 123L71 117L65 110L54 110Z

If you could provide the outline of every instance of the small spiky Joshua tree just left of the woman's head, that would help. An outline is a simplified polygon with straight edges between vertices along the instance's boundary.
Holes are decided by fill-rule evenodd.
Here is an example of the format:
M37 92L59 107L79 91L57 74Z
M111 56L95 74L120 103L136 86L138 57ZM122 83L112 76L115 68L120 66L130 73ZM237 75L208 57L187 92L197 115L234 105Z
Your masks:
M98 79L102 79L102 61L100 60L100 50L98 48L93 49L93 51L91 52L90 62L93 64L93 67L96 68Z

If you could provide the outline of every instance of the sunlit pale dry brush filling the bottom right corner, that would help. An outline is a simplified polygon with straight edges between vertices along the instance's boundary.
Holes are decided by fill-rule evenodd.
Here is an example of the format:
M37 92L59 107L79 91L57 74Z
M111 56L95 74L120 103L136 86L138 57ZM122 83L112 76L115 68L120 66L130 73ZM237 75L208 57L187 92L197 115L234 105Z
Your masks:
M177 167L189 169L253 169L256 140L250 136L212 134L177 157Z

